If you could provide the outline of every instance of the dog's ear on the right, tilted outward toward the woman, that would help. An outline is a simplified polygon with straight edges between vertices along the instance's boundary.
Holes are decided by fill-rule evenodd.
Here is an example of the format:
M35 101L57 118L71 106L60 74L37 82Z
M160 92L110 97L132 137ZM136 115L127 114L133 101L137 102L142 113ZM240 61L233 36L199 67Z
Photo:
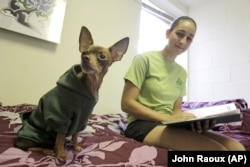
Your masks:
M113 62L122 59L122 56L127 52L128 45L129 38L126 37L109 47Z

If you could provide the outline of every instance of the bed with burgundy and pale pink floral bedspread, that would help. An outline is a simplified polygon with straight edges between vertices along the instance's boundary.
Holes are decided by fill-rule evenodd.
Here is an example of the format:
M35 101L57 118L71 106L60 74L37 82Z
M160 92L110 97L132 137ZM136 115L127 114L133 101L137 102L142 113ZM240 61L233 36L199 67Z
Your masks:
M250 151L250 109L244 99L216 102L183 102L183 110L234 102L242 112L242 121L217 124L214 131L231 136ZM145 145L124 136L126 115L124 113L92 114L87 128L79 134L81 152L66 142L68 160L63 161L40 153L26 152L13 147L16 132L22 126L19 114L30 112L34 104L5 106L0 102L0 166L32 167L115 167L115 166L167 166L170 150Z

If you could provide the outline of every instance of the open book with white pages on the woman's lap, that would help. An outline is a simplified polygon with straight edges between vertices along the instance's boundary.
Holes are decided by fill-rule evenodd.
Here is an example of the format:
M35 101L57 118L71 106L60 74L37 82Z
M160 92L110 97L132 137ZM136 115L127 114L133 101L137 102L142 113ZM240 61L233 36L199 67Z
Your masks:
M215 120L216 123L235 122L240 121L241 117L240 110L237 109L234 103L203 107L183 112L192 113L196 116L196 118L179 121L167 121L162 123L168 126L185 127L190 125L192 122L200 121L203 123L205 120Z

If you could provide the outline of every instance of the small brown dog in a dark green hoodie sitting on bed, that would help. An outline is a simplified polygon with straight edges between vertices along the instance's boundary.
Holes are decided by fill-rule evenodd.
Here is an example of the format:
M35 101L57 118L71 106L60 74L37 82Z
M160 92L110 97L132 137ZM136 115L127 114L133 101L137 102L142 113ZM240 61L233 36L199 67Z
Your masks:
M32 112L21 115L23 126L18 131L16 147L66 159L65 138L72 136L74 149L82 150L77 142L78 132L87 126L103 77L111 64L126 53L129 38L109 48L93 43L90 31L83 26L79 37L81 65L66 71Z

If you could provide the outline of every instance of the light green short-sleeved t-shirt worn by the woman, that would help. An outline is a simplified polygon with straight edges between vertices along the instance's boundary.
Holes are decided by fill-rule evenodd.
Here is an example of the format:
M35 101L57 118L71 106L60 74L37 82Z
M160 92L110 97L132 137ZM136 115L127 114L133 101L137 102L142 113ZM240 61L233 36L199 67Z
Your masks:
M174 102L186 95L186 78L186 70L159 51L135 56L124 77L140 89L141 104L166 114L171 114ZM128 116L129 123L135 119Z

